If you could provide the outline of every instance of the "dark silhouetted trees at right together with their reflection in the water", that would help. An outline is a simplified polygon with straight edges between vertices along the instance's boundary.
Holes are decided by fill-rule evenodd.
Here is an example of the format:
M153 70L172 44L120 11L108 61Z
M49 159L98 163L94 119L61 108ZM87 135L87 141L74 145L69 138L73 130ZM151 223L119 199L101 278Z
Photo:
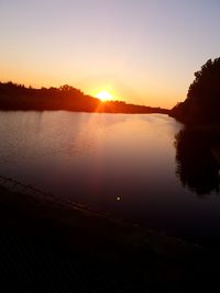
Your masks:
M185 124L176 135L177 176L199 196L219 192L220 58L209 59L189 86L187 99L170 110Z

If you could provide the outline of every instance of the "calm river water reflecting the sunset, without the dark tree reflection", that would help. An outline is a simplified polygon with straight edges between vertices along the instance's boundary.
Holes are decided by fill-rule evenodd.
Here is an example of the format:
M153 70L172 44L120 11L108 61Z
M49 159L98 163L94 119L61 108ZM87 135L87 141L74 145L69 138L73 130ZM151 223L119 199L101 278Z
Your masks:
M220 237L216 181L176 160L182 128L161 114L0 112L0 174L169 235Z

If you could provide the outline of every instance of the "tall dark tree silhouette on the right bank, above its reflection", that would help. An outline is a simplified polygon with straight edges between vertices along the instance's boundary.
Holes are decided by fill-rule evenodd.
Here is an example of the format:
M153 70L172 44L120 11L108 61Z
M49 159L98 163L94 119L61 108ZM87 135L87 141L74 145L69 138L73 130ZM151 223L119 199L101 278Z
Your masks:
M220 58L209 59L195 72L187 99L170 111L186 124L220 124Z

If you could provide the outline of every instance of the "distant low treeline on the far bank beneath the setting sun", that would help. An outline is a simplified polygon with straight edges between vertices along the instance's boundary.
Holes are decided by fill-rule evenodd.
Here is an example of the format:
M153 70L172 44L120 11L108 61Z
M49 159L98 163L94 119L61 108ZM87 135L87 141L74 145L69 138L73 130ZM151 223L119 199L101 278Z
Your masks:
M0 110L67 110L103 113L168 113L168 110L127 104L122 101L101 102L70 86L61 88L25 88L0 82Z

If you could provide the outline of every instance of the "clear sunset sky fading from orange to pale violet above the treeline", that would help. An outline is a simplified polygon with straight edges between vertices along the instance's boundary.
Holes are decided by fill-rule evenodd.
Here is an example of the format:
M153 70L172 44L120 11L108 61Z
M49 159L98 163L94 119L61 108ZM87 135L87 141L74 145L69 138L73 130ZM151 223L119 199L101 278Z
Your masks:
M0 81L172 108L220 55L219 0L0 0Z

